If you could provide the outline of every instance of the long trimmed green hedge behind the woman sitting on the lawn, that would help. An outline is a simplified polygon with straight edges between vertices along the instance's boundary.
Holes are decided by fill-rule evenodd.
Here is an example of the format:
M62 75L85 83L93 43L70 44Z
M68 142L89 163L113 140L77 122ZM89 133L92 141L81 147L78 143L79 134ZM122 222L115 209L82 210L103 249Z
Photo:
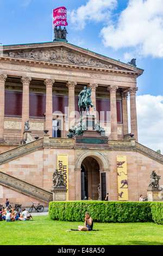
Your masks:
M155 222L163 224L160 202L66 201L50 202L49 217L59 221L82 221L89 212L94 222Z

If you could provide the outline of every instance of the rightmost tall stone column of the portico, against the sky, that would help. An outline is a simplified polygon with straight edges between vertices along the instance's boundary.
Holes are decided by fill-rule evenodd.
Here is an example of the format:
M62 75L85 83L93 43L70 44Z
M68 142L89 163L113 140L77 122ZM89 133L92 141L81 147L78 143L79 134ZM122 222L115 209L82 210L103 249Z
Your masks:
M130 93L130 124L131 134L134 134L135 141L137 142L137 115L136 115L136 91L137 87L129 87Z

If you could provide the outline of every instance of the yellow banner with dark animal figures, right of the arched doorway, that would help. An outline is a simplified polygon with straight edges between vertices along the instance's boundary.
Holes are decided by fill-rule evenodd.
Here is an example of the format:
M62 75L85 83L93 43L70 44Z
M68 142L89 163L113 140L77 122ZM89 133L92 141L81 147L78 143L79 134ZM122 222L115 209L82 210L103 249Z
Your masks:
M127 157L117 156L118 200L128 200Z

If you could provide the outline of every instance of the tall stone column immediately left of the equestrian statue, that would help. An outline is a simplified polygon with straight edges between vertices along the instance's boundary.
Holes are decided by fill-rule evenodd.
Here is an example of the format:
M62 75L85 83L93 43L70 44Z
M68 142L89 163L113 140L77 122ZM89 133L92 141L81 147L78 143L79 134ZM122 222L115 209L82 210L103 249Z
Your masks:
M74 102L74 89L77 82L67 82L68 87L68 127L71 128L75 123L75 102Z

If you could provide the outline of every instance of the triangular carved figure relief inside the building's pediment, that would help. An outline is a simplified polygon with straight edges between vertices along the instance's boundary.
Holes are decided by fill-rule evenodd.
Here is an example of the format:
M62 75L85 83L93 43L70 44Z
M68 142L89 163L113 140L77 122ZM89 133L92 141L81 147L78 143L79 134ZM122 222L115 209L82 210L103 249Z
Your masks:
M70 63L84 66L95 66L97 68L118 69L117 66L102 63L99 59L89 58L83 54L74 53L72 50L60 48L49 48L48 50L34 50L9 52L5 56L11 58L27 58L33 60L42 60L48 62Z

